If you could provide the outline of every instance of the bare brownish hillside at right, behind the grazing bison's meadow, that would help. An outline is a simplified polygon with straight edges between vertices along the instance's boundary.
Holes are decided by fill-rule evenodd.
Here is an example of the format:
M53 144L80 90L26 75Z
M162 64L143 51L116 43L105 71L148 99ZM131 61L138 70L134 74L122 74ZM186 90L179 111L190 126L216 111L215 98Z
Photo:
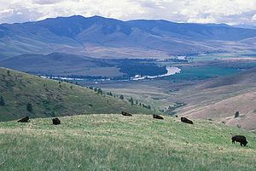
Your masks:
M228 125L256 130L256 69L217 77L194 88L181 91L179 100L187 105L177 110L180 115L212 118ZM187 94L190 92L189 94ZM187 94L187 95L185 95ZM234 118L240 111L240 117Z

